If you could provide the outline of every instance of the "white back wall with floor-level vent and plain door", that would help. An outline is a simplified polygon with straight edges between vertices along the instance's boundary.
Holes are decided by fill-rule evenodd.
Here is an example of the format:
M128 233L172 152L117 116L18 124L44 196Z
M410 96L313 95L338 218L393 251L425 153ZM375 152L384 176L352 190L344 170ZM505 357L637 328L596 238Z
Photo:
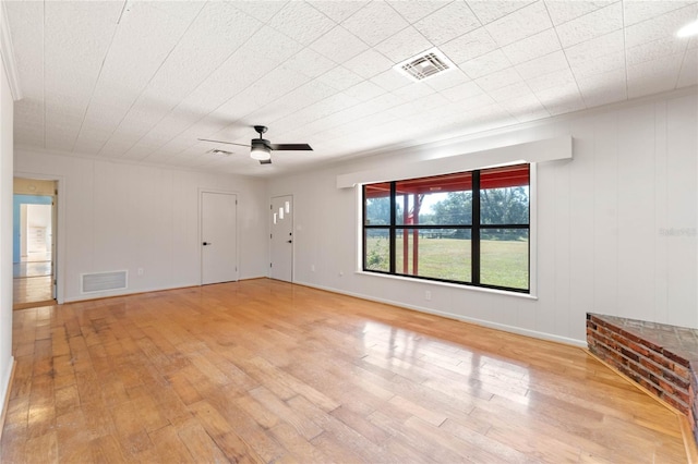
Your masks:
M67 302L99 296L81 294L86 272L129 270L129 289L109 294L200 284L202 188L238 194L239 277L266 276L266 181L20 149L15 172L58 180L58 272Z

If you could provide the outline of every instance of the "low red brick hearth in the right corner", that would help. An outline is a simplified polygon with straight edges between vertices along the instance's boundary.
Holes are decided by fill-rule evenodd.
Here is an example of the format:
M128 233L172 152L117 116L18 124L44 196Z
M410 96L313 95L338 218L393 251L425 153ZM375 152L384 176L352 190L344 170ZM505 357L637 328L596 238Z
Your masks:
M698 443L698 330L587 314L589 351L684 413Z

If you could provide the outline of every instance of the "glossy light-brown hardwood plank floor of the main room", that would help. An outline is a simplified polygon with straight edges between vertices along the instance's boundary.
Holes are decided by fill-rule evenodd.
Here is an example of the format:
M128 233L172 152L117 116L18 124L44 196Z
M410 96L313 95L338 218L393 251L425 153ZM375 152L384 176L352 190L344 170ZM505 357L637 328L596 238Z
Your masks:
M681 463L581 349L253 280L14 312L0 461Z

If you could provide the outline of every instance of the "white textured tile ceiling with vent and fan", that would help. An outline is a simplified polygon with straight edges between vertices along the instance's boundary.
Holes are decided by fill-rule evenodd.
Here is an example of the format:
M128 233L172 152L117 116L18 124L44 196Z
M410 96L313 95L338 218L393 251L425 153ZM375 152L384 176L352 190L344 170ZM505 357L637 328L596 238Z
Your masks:
M698 83L696 1L4 1L15 145L273 175ZM393 65L438 47L457 69ZM273 143L249 149L251 125ZM213 148L231 156L207 152Z

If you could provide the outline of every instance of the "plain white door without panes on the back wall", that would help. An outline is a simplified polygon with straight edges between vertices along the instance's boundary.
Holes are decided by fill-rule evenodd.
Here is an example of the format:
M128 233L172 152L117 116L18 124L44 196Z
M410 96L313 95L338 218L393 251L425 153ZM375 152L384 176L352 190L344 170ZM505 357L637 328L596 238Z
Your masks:
M201 194L202 284L238 280L237 196Z

